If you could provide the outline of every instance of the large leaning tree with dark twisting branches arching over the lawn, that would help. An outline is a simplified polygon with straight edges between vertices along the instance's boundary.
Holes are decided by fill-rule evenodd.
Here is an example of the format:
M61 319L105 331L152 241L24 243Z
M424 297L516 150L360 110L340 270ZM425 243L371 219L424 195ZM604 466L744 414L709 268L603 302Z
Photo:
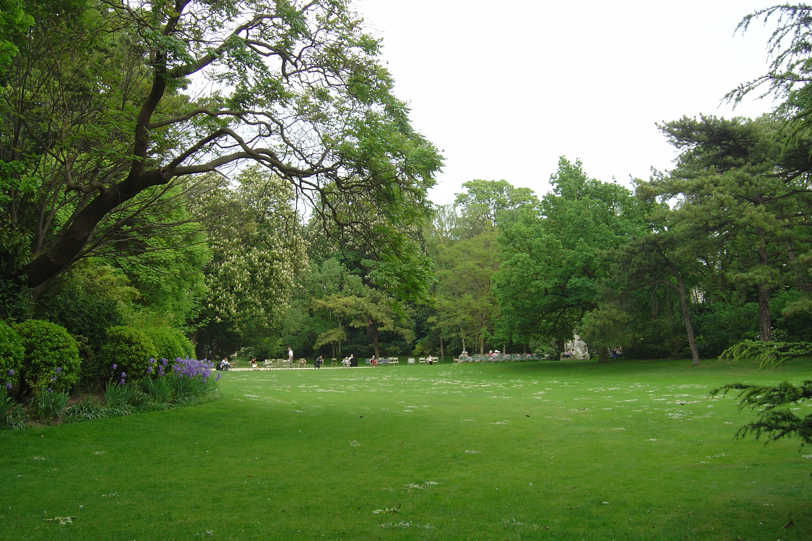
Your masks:
M24 161L43 181L32 199L11 193L6 212L29 230L45 223L42 209L50 220L22 268L35 290L120 205L240 161L370 237L425 215L440 157L409 125L380 44L348 2L52 3L32 14L2 91L0 160ZM192 83L217 90L184 96ZM378 213L341 212L350 204ZM396 246L378 256L396 266Z

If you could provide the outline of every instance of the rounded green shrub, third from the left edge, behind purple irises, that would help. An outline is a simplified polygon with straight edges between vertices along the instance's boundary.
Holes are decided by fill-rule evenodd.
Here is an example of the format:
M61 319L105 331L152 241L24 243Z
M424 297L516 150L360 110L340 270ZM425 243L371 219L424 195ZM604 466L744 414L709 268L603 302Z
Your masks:
M158 356L155 344L144 331L132 327L110 327L99 353L102 367L115 380L140 380L147 376L149 359ZM125 376L121 376L125 374Z

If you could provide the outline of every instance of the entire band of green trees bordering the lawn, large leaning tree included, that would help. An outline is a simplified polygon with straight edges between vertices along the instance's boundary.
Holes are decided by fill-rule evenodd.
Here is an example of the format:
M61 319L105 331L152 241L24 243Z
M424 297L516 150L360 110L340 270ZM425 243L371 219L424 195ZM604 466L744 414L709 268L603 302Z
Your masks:
M544 195L434 206L442 157L347 3L227 4L2 4L2 319L86 359L122 325L208 359L812 341L808 8L743 23L781 15L781 53L729 97L780 106L663 123L672 170L627 188L562 157Z

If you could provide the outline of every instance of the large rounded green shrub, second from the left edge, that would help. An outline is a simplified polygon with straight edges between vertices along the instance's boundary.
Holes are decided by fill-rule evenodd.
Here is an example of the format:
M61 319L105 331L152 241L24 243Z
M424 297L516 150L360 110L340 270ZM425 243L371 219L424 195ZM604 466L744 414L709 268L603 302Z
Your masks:
M67 389L79 378L80 360L76 340L61 325L28 320L16 324L24 348L20 371L33 389Z

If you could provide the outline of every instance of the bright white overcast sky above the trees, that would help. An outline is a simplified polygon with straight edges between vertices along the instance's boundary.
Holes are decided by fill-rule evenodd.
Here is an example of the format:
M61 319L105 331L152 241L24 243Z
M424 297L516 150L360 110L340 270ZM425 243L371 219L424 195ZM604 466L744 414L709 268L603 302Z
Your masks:
M772 26L733 32L777 2L358 0L412 123L443 150L430 199L503 178L544 194L559 156L628 184L667 170L675 152L654 126L732 116L722 97L766 71ZM756 116L771 101L748 101Z

